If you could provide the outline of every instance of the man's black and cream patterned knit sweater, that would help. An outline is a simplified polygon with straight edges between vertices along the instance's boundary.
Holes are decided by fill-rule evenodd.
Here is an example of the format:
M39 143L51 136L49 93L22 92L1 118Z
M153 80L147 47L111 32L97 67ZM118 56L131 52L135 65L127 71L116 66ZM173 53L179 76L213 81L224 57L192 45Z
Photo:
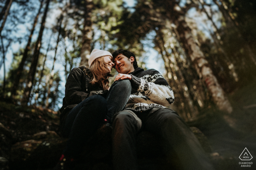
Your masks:
M124 110L142 112L154 107L165 108L174 102L172 88L157 70L144 71L138 67L129 74L132 93Z

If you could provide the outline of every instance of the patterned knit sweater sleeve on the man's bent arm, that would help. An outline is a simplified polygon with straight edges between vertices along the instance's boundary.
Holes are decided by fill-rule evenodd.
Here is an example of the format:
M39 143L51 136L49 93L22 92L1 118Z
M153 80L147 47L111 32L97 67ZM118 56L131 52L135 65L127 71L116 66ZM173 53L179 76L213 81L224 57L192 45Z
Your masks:
M167 107L174 102L173 90L157 70L152 71L151 75L142 78L132 75L132 88L147 96L148 100Z

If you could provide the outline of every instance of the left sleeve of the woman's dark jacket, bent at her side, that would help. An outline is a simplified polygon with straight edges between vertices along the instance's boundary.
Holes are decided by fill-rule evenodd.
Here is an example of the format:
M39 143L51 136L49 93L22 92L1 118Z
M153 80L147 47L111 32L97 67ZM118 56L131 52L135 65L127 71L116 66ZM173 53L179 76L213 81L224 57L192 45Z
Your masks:
M79 104L87 97L87 93L82 91L81 81L84 72L80 68L73 68L68 75L65 84L65 101L68 105Z

